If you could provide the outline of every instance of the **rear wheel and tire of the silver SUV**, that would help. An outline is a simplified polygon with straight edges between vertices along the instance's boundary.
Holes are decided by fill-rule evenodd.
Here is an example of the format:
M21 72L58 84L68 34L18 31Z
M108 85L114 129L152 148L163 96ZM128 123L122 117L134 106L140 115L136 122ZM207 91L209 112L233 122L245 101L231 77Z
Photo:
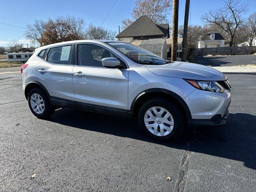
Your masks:
M37 118L48 118L55 112L55 108L50 104L46 94L38 88L30 90L28 93L28 106Z

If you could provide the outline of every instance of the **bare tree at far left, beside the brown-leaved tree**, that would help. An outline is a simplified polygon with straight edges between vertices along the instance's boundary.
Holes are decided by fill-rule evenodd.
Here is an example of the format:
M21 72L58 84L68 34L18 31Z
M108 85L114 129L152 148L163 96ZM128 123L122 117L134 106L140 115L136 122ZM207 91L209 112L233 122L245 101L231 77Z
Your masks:
M25 36L31 42L39 42L45 31L45 24L43 20L35 20L33 24L27 24L27 30L25 31ZM42 46L42 44L40 44Z

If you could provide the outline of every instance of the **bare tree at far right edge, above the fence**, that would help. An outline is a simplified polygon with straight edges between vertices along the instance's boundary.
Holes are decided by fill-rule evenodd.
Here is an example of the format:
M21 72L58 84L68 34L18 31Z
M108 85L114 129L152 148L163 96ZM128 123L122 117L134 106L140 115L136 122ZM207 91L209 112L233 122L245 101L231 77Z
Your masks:
M256 12L247 18L243 25L243 31L247 36L246 41L252 46L252 42L256 38Z

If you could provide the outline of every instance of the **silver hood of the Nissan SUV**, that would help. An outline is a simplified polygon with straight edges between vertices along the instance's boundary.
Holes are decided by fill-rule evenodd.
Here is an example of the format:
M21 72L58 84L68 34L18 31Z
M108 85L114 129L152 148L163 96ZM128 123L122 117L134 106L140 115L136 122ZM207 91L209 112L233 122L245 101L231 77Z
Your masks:
M150 72L159 76L194 80L226 80L226 76L214 68L188 62L172 62L164 65L146 65L146 68Z

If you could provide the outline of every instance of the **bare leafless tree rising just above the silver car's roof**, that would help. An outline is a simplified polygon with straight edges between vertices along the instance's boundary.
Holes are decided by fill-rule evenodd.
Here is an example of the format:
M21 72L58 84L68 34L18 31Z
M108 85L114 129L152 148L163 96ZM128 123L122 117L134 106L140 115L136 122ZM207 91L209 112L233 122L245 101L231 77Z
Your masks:
M94 26L90 24L88 26L88 32L86 35L87 39L105 39L105 40L115 40L116 31L108 30L100 26Z

